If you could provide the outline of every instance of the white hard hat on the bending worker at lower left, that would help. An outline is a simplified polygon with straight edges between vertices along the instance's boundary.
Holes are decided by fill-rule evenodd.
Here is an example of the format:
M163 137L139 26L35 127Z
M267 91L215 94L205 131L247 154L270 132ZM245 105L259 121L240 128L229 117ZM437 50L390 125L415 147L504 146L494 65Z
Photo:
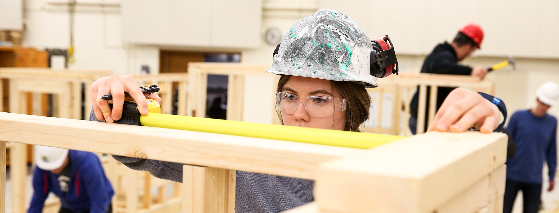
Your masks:
M62 166L68 152L68 149L35 145L35 163L41 170L55 170Z

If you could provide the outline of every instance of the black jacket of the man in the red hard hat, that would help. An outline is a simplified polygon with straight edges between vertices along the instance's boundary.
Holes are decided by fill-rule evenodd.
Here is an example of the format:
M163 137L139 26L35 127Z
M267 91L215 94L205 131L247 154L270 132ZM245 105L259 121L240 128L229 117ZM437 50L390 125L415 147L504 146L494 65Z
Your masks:
M456 56L456 51L447 42L440 43L435 47L433 52L431 52L425 61L423 62L423 67L421 67L421 72L423 73L434 73L434 74L449 74L449 75L470 75L472 73L472 67L463 66L458 64L458 57ZM440 87L437 91L437 110L439 110L440 105L443 104L444 99L447 98L448 94L455 88ZM427 87L427 107L425 107L425 130L427 130L427 118L429 118L429 94L430 87ZM411 116L414 118L418 117L418 102L419 102L419 86L418 90L415 92L413 99L410 103Z

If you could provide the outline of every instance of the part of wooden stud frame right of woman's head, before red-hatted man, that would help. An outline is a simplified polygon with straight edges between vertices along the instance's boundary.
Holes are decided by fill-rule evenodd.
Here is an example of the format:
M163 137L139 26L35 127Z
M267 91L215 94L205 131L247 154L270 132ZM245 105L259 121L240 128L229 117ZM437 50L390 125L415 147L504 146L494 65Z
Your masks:
M390 77L387 79L377 80L380 85L378 88L367 88L369 93L378 94L378 100L373 100L373 105L379 105L379 110L373 111L371 118L378 118L373 121L372 127L364 127L364 132L394 134L394 135L409 135L408 120L410 118L410 102L413 97L414 91L419 87L419 104L418 104L418 118L417 118L417 133L423 133L425 120L428 120L428 125L434 119L437 104L438 86L445 87L463 87L473 91L479 91L487 94L495 93L495 83L491 80L481 80L475 76L463 75L440 75L440 74L426 74L426 73L411 73L402 72L400 75ZM430 87L429 100L427 100L427 87ZM383 101L383 97L387 94L392 96L390 109L391 124L388 128L382 127L382 106L387 104ZM429 103L429 117L425 117L426 106ZM401 113L404 112L402 118ZM403 127L402 127L403 119Z

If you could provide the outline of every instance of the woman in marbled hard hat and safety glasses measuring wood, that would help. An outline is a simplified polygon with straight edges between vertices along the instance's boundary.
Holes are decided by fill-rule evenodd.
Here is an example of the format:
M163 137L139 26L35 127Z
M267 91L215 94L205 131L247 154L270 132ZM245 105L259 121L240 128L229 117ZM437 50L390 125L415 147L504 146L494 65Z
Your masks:
M278 114L284 125L299 127L358 132L359 125L369 117L371 98L365 88L376 87L377 78L397 72L389 38L372 42L348 16L326 9L296 22L273 58L273 66L266 71L281 75L275 94ZM94 114L90 120L120 119L125 91L138 101L141 114L147 114L145 96L134 79L110 76L92 85ZM120 97L113 98L112 111L107 101L98 98L107 93ZM153 94L150 98L160 101ZM119 107L114 107L115 103ZM430 129L462 132L478 124L481 132L490 133L498 127L499 117L495 104L478 93L457 89L449 95ZM135 170L182 182L182 164L114 157ZM238 171L235 211L285 211L313 201L313 188L311 180Z

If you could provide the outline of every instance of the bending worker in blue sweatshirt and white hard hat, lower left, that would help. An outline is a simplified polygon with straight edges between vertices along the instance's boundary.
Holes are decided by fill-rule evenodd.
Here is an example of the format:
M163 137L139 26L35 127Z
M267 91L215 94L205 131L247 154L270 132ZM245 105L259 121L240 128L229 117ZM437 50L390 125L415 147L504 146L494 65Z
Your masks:
M34 193L27 212L42 212L49 192L62 203L59 213L112 212L115 192L96 154L35 146L34 156Z

